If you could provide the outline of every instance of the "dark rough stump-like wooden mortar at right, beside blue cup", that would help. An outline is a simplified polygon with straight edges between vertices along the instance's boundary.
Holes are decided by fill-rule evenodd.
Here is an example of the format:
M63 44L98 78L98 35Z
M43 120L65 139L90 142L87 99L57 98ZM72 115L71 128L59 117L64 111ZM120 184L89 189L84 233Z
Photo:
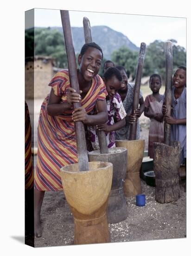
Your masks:
M171 141L170 146L154 142L153 149L155 200L159 203L177 201L180 197L180 142Z

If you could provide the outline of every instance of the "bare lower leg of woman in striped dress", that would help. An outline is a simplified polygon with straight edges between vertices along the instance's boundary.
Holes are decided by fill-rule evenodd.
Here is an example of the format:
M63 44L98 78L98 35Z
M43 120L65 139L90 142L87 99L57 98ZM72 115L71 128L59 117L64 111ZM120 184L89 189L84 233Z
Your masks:
M34 189L34 237L42 236L40 225L40 211L43 203L45 191Z

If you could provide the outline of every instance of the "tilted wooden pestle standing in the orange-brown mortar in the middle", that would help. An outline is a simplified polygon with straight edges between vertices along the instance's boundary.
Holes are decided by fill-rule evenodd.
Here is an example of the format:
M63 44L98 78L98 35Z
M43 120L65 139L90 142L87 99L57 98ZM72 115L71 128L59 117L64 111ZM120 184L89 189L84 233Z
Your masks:
M132 114L134 113L134 110L136 110L139 107L140 82L141 82L143 64L145 59L145 50L146 50L146 44L141 43L139 58L137 63L136 78L135 78ZM136 140L136 134L137 134L137 122L134 122L133 124L130 124L129 140L130 141Z

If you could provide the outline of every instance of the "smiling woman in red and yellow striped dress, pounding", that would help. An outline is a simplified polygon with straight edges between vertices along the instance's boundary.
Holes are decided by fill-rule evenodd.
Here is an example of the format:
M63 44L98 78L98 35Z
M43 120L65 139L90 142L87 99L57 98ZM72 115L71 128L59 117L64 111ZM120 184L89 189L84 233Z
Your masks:
M45 191L63 190L60 168L78 162L75 121L99 125L108 119L105 97L107 91L98 75L102 49L96 43L82 47L77 70L80 93L70 87L69 71L59 71L49 83L51 93L45 98L38 121L37 168L35 186L35 237L42 234L40 210ZM81 101L82 107L72 104ZM97 106L97 115L88 115Z

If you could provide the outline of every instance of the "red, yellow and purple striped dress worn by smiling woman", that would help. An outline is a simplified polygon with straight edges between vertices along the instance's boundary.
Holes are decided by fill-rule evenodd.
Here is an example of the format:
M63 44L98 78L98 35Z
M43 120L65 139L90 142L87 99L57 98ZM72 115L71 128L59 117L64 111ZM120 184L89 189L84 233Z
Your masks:
M68 70L58 72L49 86L53 88L54 94L62 95L60 104L66 102L66 91L70 87ZM81 104L89 113L95 107L96 101L105 100L106 95L102 78L96 75ZM41 106L38 120L38 153L34 186L41 191L57 191L63 189L60 168L78 162L76 134L71 117L73 109L62 115L48 115L48 99L49 95Z

